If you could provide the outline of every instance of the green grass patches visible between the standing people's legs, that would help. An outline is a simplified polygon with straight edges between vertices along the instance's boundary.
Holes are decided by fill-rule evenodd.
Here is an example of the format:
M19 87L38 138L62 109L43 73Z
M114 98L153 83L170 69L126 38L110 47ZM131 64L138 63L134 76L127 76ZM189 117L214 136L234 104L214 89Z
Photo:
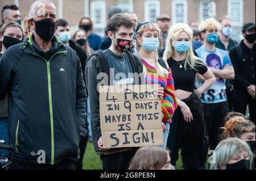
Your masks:
M86 146L86 151L85 155L82 161L82 169L84 170L101 170L101 159L100 155L97 155L94 148L93 144L88 141L87 146ZM179 160L177 161L176 165L176 170L182 170L182 162L181 162L181 157L179 156Z

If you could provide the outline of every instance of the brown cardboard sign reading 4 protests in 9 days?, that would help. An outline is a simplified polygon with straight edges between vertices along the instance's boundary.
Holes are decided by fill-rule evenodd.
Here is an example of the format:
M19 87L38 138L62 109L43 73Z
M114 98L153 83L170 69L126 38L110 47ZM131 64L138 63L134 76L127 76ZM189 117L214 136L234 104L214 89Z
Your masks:
M101 86L100 117L107 148L163 145L159 85Z

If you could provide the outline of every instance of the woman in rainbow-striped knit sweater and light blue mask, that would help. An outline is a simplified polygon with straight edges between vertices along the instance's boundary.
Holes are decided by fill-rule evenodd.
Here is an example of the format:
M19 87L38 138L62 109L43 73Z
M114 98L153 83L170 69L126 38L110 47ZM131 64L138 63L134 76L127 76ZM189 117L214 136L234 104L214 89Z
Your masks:
M166 148L172 116L177 107L174 79L166 62L158 57L160 30L152 23L141 23L135 31L138 54L144 65L146 84L160 84L164 89L162 100L162 128Z

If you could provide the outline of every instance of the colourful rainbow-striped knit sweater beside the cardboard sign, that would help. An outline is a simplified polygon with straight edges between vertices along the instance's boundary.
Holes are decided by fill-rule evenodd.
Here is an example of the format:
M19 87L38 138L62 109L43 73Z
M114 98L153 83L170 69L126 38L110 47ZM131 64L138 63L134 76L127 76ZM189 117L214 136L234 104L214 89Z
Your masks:
M156 72L156 69L151 65L147 64L145 60L142 59L142 63L147 70L146 74L146 84L160 84L164 88L164 99L162 100L162 112L164 113L163 121L172 122L172 116L177 108L177 100L175 96L174 89L174 79L172 78L171 69L168 68L168 78L160 77Z

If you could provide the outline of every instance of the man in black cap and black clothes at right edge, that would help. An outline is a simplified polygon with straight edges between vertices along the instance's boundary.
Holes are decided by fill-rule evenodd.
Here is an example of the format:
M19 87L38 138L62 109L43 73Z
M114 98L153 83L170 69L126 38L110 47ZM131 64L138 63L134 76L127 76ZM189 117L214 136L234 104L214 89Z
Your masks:
M242 35L244 40L229 53L235 70L234 111L245 115L249 105L250 120L255 123L255 24L245 24Z

